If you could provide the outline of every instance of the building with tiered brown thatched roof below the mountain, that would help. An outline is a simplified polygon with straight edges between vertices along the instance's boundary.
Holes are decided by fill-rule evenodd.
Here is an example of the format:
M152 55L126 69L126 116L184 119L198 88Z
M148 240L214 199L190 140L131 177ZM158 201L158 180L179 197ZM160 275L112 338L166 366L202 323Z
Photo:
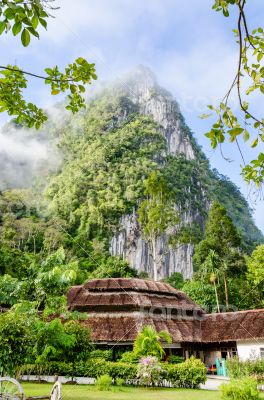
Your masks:
M93 342L131 347L143 326L167 330L173 354L194 354L206 364L216 358L255 353L264 357L264 310L206 314L170 285L134 278L94 279L68 293L70 310L87 312L83 321Z

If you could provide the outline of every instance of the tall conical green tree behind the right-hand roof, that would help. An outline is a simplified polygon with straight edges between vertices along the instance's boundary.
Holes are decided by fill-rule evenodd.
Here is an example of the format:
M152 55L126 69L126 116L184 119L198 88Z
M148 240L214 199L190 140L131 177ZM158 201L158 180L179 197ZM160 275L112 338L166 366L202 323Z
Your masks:
M260 287L247 279L247 265L241 238L223 206L213 203L204 239L196 246L193 261L196 273L183 290L208 311L230 305L239 309L261 306ZM212 305L216 304L216 309ZM225 304L225 306L223 306Z

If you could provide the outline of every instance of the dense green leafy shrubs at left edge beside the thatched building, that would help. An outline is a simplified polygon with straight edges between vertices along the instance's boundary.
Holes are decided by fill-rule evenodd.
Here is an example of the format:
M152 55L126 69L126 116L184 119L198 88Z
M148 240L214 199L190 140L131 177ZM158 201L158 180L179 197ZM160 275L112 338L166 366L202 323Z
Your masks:
M40 319L34 308L22 306L0 314L0 365L13 375L23 364L87 359L92 349L90 331L78 321Z

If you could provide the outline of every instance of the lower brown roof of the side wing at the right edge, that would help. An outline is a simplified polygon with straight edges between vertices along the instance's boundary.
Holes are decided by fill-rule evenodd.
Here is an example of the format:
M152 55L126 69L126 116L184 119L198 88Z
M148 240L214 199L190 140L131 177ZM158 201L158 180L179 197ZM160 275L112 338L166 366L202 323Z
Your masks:
M202 321L203 342L264 339L264 309L206 314Z

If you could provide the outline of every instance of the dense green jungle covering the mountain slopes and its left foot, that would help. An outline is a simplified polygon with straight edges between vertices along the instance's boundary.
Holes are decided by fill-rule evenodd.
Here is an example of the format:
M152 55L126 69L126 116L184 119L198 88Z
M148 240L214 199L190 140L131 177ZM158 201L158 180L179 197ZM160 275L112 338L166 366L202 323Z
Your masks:
M242 258L263 241L239 189L210 170L179 118L195 146L195 160L168 155L159 126L140 115L119 91L105 90L76 116L47 123L45 135L63 157L58 171L40 177L31 188L0 195L2 307L36 301L40 309L58 311L65 306L64 295L72 284L92 277L137 276L126 261L109 254L109 240L121 216L137 209L144 199L145 182L153 171L166 181L179 215L186 211L196 215L184 242L192 240L199 246L212 201L223 205L233 221L240 241L232 246ZM209 250L215 249L209 246ZM203 263L196 261L196 269ZM246 276L247 267L242 270ZM239 281L238 275L234 282ZM207 280L208 298L199 297L199 279L195 275L186 290L194 300L208 304L214 298L213 285ZM230 290L238 293L239 288ZM256 305L248 301L239 306L236 295L232 302L238 307Z

